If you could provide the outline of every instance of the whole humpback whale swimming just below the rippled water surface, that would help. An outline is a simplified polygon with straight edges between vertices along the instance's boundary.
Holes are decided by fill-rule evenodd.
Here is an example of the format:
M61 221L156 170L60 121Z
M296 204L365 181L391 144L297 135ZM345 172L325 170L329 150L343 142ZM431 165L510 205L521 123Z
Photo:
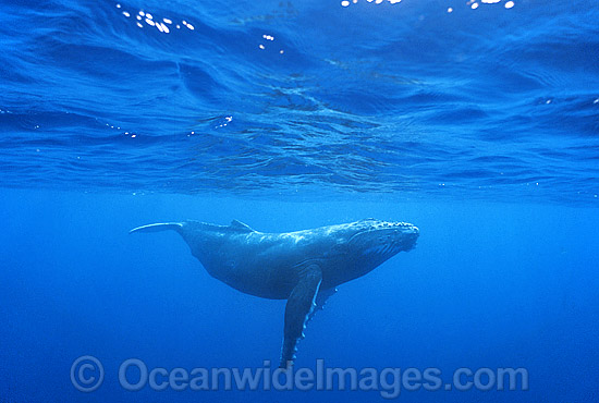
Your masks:
M230 225L183 221L130 233L162 230L179 232L211 277L246 294L288 300L281 368L293 364L306 323L338 285L412 249L419 234L413 224L375 219L283 233L258 232L237 220Z

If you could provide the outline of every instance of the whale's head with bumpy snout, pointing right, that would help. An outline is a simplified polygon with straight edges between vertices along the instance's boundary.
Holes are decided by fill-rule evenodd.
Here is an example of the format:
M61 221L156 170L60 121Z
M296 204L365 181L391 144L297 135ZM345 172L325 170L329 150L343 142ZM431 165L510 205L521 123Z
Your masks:
M375 269L400 252L414 248L420 233L417 227L407 222L366 219L351 225L347 253L364 272Z

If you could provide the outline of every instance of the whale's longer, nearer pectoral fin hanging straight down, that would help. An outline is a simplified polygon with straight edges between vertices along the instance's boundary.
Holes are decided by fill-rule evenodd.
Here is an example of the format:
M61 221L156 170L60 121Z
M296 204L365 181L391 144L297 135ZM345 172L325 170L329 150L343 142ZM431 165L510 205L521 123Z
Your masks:
M322 271L317 265L310 265L302 271L297 285L292 290L285 307L285 329L281 364L289 368L295 358L297 342L304 338L304 329L310 312L314 309L316 295L322 282Z

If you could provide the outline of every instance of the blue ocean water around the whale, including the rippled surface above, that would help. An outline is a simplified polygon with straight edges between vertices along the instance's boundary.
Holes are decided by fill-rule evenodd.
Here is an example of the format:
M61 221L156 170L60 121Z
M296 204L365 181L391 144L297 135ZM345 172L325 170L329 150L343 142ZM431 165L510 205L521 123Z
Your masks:
M526 368L398 399L597 402L599 3L493 1L1 2L0 401L380 400L118 379L277 363L283 326L130 229L376 217L418 246L341 286L297 367Z

